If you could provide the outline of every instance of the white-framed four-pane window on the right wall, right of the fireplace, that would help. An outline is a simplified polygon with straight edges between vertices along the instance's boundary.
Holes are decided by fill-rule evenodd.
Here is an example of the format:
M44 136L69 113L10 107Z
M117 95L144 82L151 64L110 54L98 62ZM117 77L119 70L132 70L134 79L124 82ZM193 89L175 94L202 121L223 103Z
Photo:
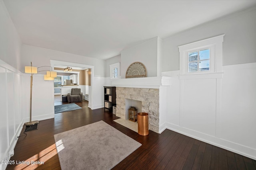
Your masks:
M180 75L221 72L223 37L219 35L179 46Z

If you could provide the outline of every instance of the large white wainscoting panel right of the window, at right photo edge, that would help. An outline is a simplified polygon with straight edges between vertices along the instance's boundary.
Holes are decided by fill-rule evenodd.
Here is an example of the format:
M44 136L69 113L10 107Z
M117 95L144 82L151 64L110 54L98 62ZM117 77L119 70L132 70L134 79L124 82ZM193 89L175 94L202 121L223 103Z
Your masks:
M256 157L256 63L223 70L221 138L253 148Z

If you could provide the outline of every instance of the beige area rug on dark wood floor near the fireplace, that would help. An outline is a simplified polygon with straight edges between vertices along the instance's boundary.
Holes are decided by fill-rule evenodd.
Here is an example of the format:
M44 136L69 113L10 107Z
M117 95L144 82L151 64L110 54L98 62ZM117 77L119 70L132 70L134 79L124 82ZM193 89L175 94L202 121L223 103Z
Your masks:
M104 121L56 134L54 139L62 170L108 170L141 146Z

